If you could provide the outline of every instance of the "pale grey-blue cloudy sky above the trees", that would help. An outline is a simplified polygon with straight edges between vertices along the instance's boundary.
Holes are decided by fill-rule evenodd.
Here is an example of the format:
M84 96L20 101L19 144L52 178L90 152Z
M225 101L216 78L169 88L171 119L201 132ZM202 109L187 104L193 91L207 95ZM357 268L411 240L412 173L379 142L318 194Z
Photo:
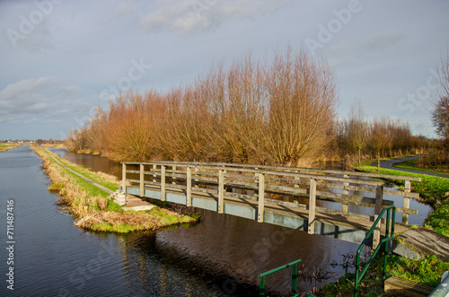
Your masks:
M288 45L327 61L339 118L360 101L435 137L448 15L446 0L0 0L0 140L62 140L119 91L167 92Z

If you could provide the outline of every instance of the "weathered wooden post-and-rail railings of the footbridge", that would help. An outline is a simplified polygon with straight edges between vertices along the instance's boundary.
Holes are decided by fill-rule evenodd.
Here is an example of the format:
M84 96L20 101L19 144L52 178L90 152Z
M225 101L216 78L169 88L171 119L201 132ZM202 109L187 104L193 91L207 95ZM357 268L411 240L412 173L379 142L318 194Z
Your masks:
M418 214L409 208L409 198L418 198L410 191L410 180L419 178L370 174L341 170L317 170L267 165L203 162L122 162L123 188L126 182L138 184L141 196L145 187L157 187L161 199L167 188L186 191L187 205L191 205L192 192L216 195L218 212L225 211L225 197L237 197L258 202L258 221L264 221L266 203L285 205L308 211L308 231L314 233L317 214L339 214L344 217L374 222L384 206L393 201L383 199L383 195L403 198L402 207L396 207L403 214L402 223L408 223L409 214ZM402 179L405 188L386 189L391 184L381 180ZM349 194L353 191L353 194ZM374 197L366 197L365 193ZM290 201L285 201L285 200ZM318 201L341 204L341 210L321 207ZM374 215L357 214L348 211L348 205L374 208ZM380 238L374 234L374 239ZM374 243L375 245L375 243Z

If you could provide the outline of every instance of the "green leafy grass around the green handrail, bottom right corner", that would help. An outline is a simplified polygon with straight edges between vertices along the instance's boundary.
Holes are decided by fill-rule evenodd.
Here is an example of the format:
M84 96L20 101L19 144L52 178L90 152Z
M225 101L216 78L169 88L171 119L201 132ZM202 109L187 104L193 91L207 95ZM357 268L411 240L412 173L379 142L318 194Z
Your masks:
M387 260L386 276L397 276L402 279L427 284L436 287L440 283L441 275L449 270L449 263L427 256L423 259L408 259L389 255ZM383 257L378 255L366 271L359 284L360 296L379 296L382 292ZM348 273L339 278L334 284L325 285L317 296L353 296L356 275Z

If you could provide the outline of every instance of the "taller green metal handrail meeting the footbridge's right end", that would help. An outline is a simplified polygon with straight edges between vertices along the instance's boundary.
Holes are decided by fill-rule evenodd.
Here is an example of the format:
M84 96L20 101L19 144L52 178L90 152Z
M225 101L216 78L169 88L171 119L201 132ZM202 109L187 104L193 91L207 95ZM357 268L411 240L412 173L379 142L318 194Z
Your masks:
M392 210L392 230L391 230L391 232L390 232L390 212L389 212L389 210ZM360 251L365 246L366 240L368 240L368 238L371 236L371 234L373 234L375 226L377 226L377 223L379 223L381 221L382 216L383 216L383 214L385 212L387 212L387 224L386 224L386 227L385 227L385 238L383 240L381 240L381 242L379 243L377 248L374 249L374 252L372 253L371 258L369 258L368 262L366 263L365 268L360 273L359 268L358 268L360 266ZM370 231L368 231L368 233L366 234L365 240L363 240L362 243L360 244L360 247L358 247L358 249L357 249L357 258L356 258L356 283L354 285L354 296L355 297L357 297L357 293L358 293L358 284L360 283L360 281L364 277L366 270L370 266L371 262L373 261L375 255L377 254L379 249L381 249L383 243L385 243L385 250L384 250L384 253L383 253L383 272L382 272L382 287L384 289L384 287L385 287L385 276L386 276L385 275L385 271L386 271L386 268L387 268L388 242L390 240L392 240L393 237L394 237L394 223L395 222L396 222L396 206L391 205L391 206L388 206L388 207L384 207L382 212L381 212L381 214L379 214L379 216L377 217L377 220L375 220L375 222L373 224L373 227L371 227Z

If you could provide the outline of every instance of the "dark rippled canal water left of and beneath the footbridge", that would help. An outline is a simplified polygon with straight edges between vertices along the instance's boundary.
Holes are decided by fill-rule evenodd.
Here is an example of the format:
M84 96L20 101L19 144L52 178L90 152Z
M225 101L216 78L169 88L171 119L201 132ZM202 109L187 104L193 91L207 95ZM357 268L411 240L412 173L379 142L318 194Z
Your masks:
M119 175L119 165L105 158L56 152ZM48 192L41 165L28 146L0 153L0 296L257 296L257 275L298 258L304 275L323 276L321 282L301 280L306 292L344 275L345 255L357 249L350 242L208 211L200 223L154 232L82 231ZM15 243L13 264L7 264L11 201ZM13 291L5 282L11 267ZM270 296L288 295L289 273L267 279Z

